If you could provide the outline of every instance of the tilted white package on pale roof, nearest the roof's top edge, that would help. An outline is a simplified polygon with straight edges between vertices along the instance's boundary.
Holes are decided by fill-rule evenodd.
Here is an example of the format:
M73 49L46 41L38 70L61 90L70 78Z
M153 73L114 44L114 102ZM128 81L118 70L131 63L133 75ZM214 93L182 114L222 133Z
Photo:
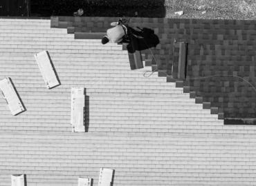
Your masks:
M51 59L49 58L48 53L43 51L35 54L34 56L44 78L44 83L46 83L46 87L51 88L60 85L60 82L57 80L57 76L53 70L53 65L51 64Z

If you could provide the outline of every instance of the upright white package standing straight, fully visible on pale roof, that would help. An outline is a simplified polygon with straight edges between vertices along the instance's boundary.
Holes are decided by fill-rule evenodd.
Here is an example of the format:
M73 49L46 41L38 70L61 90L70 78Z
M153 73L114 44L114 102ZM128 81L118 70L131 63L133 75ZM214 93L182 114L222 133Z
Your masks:
M85 132L84 126L85 95L84 87L71 88L71 125L73 132Z

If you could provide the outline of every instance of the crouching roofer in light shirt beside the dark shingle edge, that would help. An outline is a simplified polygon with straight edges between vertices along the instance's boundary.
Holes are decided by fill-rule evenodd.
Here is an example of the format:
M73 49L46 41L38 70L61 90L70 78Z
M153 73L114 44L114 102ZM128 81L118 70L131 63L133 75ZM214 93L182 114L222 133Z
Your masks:
M129 41L128 33L129 33L129 26L126 23L127 21L123 19L119 19L118 22L113 22L111 25L116 25L114 28L110 28L107 30L107 36L104 36L101 40L101 43L104 45L106 43L120 43L122 39Z

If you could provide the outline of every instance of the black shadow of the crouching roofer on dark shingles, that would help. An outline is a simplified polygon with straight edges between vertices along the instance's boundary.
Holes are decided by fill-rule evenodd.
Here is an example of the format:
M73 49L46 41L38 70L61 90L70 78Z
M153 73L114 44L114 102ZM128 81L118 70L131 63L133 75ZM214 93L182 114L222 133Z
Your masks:
M137 27L138 28L138 27ZM160 40L156 34L154 34L154 30L149 28L138 28L135 30L131 29L130 39L131 42L127 42L127 50L129 53L134 53L136 51L143 51L149 48L155 48L156 45L160 43ZM135 41L135 42L134 42ZM125 43L125 41L123 42Z

